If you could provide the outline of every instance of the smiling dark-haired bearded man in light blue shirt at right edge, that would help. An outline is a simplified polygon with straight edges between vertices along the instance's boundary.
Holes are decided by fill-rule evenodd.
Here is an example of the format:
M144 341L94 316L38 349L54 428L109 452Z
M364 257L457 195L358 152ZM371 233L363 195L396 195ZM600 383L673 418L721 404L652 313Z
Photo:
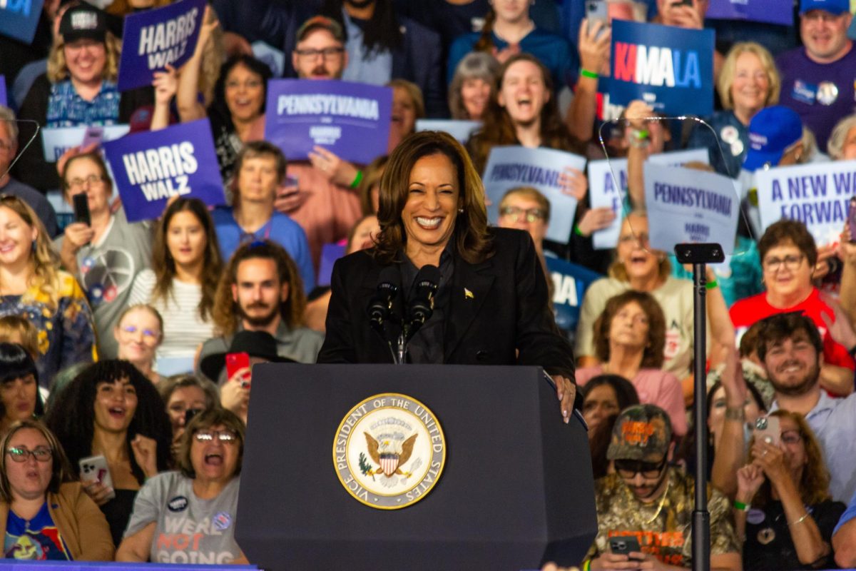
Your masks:
M844 324L839 319L846 320L836 312L841 327ZM847 502L856 491L856 393L834 399L821 390L822 354L823 341L810 318L780 313L764 320L758 357L776 390L770 412L782 408L805 416L823 447L831 477L829 493L832 499Z

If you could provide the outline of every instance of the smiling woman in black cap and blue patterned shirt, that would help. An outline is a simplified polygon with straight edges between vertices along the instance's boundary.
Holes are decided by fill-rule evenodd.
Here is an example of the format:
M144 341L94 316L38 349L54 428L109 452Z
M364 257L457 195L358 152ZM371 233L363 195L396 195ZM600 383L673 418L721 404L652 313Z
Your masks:
M106 15L81 2L62 15L59 35L48 57L48 71L33 82L18 118L46 128L127 123L134 110L152 104L152 90L120 92L116 87L121 40L107 29ZM31 129L19 133L25 148ZM53 164L45 153L25 152L15 177L42 192L58 188Z

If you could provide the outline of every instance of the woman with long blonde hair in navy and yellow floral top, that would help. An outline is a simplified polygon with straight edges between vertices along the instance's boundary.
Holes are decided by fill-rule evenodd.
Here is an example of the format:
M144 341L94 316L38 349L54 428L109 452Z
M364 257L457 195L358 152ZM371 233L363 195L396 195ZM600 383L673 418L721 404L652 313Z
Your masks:
M70 274L57 270L45 227L23 200L0 195L0 316L23 315L39 330L39 384L56 372L92 362L92 311Z

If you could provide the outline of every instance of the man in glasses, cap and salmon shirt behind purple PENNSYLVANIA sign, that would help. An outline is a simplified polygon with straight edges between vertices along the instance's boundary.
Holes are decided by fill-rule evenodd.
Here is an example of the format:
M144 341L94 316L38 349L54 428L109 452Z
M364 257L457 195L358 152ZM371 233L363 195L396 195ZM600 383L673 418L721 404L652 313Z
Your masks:
M348 65L342 27L330 18L315 16L297 31L291 54L300 79L338 80ZM288 214L306 230L316 270L324 244L340 241L360 219L360 179L354 165L323 147L314 147L309 162L289 162L288 176L297 187L282 189L276 210Z

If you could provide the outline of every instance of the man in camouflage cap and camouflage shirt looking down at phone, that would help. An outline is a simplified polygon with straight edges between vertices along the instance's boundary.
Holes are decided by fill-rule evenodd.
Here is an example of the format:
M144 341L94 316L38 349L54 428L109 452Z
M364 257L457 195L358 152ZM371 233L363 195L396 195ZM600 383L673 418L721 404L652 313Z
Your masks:
M692 567L695 482L669 466L675 445L669 415L652 404L627 407L612 430L606 457L615 473L595 483L597 537L583 563L600 569ZM740 543L728 499L709 487L710 568L740 569ZM613 544L639 542L615 553Z

